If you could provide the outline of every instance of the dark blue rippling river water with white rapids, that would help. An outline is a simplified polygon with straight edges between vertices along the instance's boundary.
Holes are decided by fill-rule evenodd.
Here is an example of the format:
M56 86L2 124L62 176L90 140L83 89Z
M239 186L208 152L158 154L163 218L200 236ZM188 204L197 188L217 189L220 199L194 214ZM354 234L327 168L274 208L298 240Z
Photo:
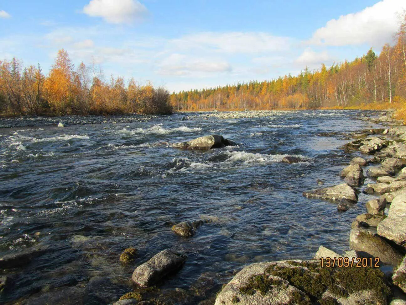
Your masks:
M348 248L350 224L367 198L345 213L302 192L341 183L354 157L342 132L371 126L357 111L285 111L220 120L191 113L150 122L0 130L0 256L27 251L6 270L4 302L109 304L132 290L136 266L175 248L188 254L160 294L175 303L213 298L243 266L308 259L324 245ZM337 132L333 137L320 133ZM221 134L238 146L187 151L168 143ZM309 161L288 164L284 155ZM171 226L210 218L192 238ZM138 249L134 264L120 253ZM180 288L180 289L176 289ZM59 300L59 301L58 301Z

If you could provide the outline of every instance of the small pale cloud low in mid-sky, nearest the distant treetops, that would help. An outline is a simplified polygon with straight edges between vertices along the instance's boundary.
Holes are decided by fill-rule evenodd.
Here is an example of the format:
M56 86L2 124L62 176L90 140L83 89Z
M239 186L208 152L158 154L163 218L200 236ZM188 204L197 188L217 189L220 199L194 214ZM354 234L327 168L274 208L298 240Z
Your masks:
M230 72L231 65L219 59L193 58L184 54L171 54L159 63L158 73L162 75L186 76L194 72L203 74Z

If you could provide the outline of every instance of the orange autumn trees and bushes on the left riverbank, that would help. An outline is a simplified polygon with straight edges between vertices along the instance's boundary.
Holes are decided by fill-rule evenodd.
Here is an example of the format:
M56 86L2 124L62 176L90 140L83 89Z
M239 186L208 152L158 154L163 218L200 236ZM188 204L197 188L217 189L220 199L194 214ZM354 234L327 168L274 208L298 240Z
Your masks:
M105 80L93 64L75 69L59 50L47 76L41 66L23 67L16 58L0 61L0 113L3 115L169 114L169 92L148 83L128 84L123 77Z

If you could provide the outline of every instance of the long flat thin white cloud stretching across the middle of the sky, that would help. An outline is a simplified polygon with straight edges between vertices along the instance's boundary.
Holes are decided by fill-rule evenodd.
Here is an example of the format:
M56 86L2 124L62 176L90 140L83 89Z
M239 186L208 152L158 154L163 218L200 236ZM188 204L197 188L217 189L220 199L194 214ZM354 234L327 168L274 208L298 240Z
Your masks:
M273 36L260 32L205 32L186 35L171 42L178 48L205 48L226 53L261 53L288 50L288 37Z

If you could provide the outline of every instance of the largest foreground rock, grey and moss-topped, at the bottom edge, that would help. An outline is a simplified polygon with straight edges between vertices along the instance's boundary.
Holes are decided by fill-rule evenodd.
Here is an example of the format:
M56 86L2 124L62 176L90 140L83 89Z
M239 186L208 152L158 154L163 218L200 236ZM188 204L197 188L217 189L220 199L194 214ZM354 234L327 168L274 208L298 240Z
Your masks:
M379 269L274 261L246 266L221 290L215 305L383 305L389 293Z

